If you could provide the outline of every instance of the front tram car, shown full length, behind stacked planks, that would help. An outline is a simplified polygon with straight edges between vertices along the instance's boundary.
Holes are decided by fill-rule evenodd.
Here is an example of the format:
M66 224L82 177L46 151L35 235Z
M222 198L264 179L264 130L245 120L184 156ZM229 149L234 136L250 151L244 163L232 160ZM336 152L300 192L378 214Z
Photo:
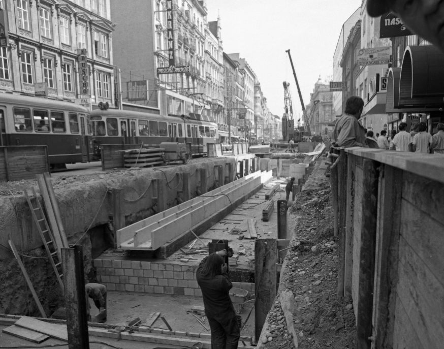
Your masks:
M207 143L217 142L217 124L198 120L199 116L172 116L120 109L91 112L94 155L100 158L102 144L191 143L193 156L207 153Z

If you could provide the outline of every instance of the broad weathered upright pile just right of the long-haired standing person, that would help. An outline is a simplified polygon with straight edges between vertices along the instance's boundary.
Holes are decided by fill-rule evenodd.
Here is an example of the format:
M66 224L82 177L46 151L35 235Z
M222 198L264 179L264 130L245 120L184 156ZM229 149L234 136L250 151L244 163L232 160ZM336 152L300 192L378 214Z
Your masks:
M275 239L257 239L255 243L255 335L260 338L267 314L277 291L277 248Z

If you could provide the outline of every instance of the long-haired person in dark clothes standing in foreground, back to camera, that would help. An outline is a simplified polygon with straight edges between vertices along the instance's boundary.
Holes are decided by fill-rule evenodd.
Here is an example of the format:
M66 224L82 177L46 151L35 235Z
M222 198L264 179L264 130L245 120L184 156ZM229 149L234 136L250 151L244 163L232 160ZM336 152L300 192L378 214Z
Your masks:
M229 291L233 287L224 263L226 250L211 253L199 264L196 279L202 291L213 349L237 349L240 327Z

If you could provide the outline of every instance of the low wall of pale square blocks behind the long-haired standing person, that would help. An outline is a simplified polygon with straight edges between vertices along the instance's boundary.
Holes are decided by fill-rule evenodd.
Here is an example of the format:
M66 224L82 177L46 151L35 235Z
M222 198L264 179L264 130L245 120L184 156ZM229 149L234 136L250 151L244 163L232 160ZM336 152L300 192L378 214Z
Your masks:
M109 291L202 296L196 281L197 266L162 262L96 259L97 281ZM233 282L233 287L255 292L254 283Z

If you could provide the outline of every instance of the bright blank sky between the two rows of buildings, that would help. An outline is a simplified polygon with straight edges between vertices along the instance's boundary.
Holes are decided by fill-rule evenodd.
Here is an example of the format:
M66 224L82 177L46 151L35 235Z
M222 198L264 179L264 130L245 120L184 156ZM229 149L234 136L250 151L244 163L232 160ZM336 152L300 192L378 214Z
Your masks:
M224 52L240 53L258 76L270 111L283 114L283 81L290 82L293 113L302 115L290 49L304 104L319 76L333 75L342 24L361 0L207 0L208 21L220 15Z

